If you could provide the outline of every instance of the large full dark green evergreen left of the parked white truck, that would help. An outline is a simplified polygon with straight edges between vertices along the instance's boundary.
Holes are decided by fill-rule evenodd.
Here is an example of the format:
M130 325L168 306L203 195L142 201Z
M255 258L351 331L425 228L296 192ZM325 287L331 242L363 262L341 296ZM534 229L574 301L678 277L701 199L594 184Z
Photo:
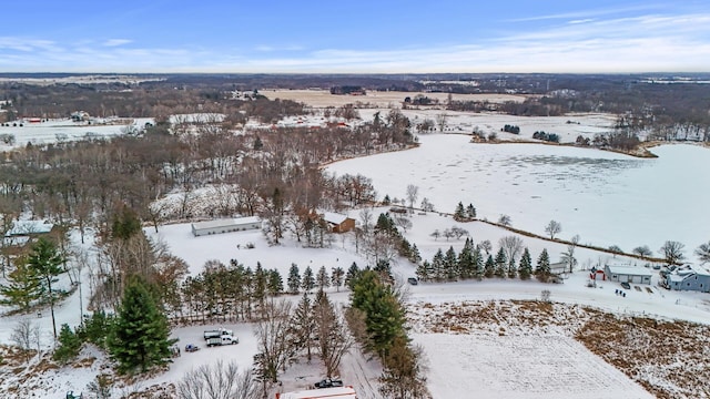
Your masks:
M118 371L145 372L153 366L168 364L170 346L176 341L169 337L168 318L146 284L139 277L131 278L108 340L111 356L119 364Z

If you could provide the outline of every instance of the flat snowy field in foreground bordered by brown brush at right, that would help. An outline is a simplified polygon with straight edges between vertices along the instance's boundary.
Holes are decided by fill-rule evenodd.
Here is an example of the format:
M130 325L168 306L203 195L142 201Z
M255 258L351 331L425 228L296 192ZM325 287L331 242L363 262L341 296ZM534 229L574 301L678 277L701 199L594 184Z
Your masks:
M435 398L653 398L569 337L413 334Z

